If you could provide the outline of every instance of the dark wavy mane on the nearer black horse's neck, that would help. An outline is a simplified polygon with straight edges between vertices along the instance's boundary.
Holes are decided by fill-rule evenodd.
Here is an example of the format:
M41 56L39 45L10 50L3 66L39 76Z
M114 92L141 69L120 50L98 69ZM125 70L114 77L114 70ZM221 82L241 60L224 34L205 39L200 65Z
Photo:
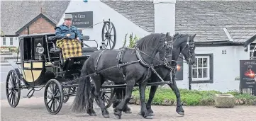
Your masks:
M145 50L146 47L158 47L160 41L165 36L163 33L152 33L150 35L146 35L144 38L141 38L136 42L135 47L139 50Z

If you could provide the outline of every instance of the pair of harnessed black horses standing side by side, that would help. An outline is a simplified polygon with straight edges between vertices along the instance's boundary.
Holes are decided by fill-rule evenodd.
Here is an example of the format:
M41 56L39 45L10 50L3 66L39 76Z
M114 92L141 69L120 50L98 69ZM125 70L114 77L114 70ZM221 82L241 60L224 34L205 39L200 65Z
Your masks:
M100 96L101 85L106 80L115 84L126 83L126 88L116 88L116 98L123 99L113 103L114 115L121 118L122 112L130 113L128 102L131 98L135 83L140 88L140 115L152 118L152 99L155 96L157 86L151 86L148 103L145 102L145 88L148 82L171 81L169 86L177 97L177 113L184 115L179 89L175 82L175 69L180 53L188 64L194 64L196 35L175 34L173 37L163 33L152 33L136 42L133 49L122 52L121 63L117 59L120 55L118 50L100 50L90 55L82 67L81 76L77 88L77 95L72 104L72 111L77 113L88 113L95 116L93 100L97 101L104 117L109 117L103 100ZM183 59L183 57L182 57ZM118 66L117 66L118 65ZM156 72L156 73L155 73ZM160 79L161 78L161 79ZM94 91L91 90L90 79L94 81Z

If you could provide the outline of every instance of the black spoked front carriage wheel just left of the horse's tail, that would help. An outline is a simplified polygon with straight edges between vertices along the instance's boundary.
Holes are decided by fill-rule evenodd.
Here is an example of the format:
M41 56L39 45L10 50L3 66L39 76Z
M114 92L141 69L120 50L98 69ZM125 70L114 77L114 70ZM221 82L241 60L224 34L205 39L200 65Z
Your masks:
M63 90L60 82L55 79L50 79L45 86L45 106L48 112L55 115L60 112L63 103Z

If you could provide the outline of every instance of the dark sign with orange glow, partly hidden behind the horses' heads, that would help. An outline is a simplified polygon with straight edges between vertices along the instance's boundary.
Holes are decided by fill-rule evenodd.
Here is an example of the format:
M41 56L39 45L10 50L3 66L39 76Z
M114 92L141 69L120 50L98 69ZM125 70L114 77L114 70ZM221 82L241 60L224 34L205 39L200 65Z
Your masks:
M183 80L183 59L181 59L180 57L183 57L183 55L180 54L178 58L175 80L182 81Z

